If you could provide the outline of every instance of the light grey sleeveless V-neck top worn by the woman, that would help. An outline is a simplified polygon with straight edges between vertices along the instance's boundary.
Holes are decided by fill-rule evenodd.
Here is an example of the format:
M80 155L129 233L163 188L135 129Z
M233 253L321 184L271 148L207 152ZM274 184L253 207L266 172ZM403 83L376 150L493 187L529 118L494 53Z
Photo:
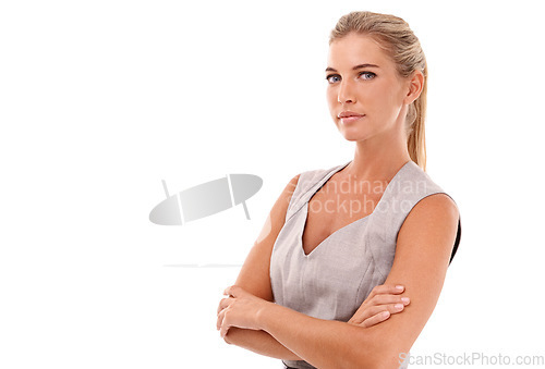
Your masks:
M300 174L286 222L272 248L270 283L275 303L314 318L349 321L373 287L386 281L393 263L398 232L411 209L424 197L446 194L410 160L388 183L371 214L334 232L305 255L302 234L308 201L349 163ZM460 236L459 219L450 261ZM283 362L290 368L314 368L303 360Z

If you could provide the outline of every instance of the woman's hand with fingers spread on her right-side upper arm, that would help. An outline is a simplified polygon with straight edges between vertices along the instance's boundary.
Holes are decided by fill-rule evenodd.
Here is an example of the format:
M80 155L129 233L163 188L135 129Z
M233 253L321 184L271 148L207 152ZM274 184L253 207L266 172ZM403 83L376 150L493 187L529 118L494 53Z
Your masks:
M403 311L405 305L410 303L409 297L400 296L403 291L404 287L400 285L375 286L348 322L368 328L387 320L392 313Z

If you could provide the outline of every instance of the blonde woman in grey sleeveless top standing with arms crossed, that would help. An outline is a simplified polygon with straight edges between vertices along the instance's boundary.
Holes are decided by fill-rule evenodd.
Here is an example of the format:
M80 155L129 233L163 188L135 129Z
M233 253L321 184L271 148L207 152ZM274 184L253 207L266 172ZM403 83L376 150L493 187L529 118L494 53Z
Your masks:
M461 233L455 201L424 172L426 78L403 20L339 20L327 100L354 158L284 188L219 304L228 343L287 368L407 365Z

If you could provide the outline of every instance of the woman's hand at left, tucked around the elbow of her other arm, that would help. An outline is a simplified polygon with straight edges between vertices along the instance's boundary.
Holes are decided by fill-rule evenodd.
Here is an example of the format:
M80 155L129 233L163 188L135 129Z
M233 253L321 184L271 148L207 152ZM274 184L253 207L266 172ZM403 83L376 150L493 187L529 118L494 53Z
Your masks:
M221 299L218 307L217 329L221 337L226 336L231 327L261 330L259 312L267 304L270 304L269 302L235 285L228 287L223 295L229 297Z

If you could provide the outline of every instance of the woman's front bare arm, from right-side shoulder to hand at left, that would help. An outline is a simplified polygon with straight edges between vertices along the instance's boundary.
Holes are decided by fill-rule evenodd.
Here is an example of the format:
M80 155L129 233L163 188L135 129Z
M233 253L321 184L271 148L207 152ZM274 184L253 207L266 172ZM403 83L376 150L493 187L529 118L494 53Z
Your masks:
M312 318L267 303L235 286L222 311L230 325L268 332L292 353L319 368L397 368L432 315L445 281L458 227L458 209L446 195L422 199L407 217L385 284L402 284L411 296L403 313L362 328Z

